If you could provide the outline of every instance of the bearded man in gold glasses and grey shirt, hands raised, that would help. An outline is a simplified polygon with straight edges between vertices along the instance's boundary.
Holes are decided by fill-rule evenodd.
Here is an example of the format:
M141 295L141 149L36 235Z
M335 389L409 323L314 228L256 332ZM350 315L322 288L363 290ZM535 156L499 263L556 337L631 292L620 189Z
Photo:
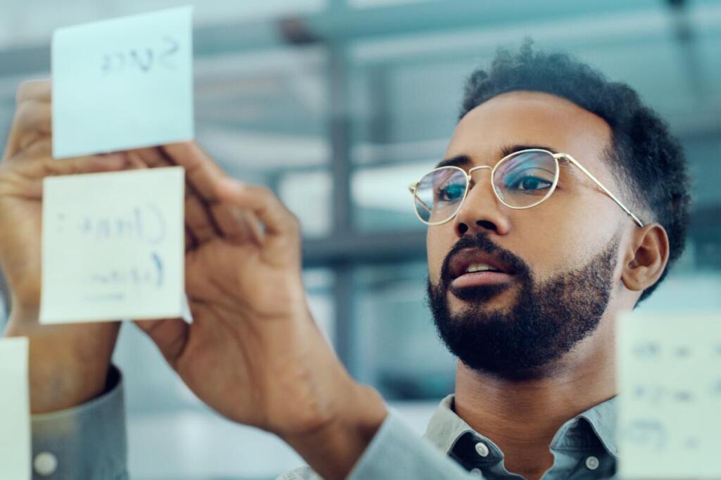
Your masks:
M629 87L528 43L469 79L446 159L411 186L429 225L430 307L459 357L427 440L324 342L298 223L270 191L226 178L194 143L54 162L48 84L26 84L18 102L0 169L0 259L6 333L30 338L45 478L127 474L110 366L118 325L37 325L42 178L170 164L187 171L195 322L138 325L203 402L304 457L309 468L285 479L614 476L614 321L681 254L689 209L684 155Z

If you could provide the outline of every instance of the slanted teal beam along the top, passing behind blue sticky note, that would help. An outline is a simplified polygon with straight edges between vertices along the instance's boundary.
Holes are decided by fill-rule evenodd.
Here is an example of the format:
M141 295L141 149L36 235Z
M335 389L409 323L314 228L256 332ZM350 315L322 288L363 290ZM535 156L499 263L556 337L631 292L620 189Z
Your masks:
M331 2L334 6L335 2ZM694 7L712 4L698 0ZM229 22L196 27L193 50L196 57L242 53L297 43L293 32L305 32L307 42L328 45L371 40L393 35L422 35L426 32L458 31L468 28L498 27L575 17L594 17L624 12L658 11L658 0L446 0L417 4L371 6L369 8L329 8L314 14L289 15L275 19ZM48 32L49 34L50 32ZM50 45L30 45L0 51L0 76L50 71Z

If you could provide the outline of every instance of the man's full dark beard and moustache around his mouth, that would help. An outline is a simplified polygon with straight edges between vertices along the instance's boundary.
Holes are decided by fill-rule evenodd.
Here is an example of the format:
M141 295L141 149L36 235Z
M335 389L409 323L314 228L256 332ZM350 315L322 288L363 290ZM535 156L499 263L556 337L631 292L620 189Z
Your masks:
M611 299L620 235L577 270L559 273L539 284L531 268L488 235L464 236L446 256L441 281L428 279L428 305L438 336L454 356L474 371L500 379L541 379L554 373L556 361L593 333ZM454 289L450 261L464 248L496 255L520 286L515 303L503 310L485 302L513 283ZM448 292L466 302L459 312L448 307Z

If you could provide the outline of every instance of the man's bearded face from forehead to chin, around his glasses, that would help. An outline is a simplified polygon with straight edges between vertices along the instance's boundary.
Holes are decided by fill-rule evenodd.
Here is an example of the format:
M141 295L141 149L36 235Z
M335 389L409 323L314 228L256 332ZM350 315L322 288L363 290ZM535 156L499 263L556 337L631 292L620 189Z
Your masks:
M620 194L604 159L610 141L608 124L572 102L516 91L466 114L446 158L466 155L467 171L495 166L516 145L547 147L572 155ZM629 220L575 166L561 166L554 194L530 209L500 203L489 170L472 177L456 217L428 227L428 293L438 331L471 368L544 376L544 367L598 327L619 282L619 242ZM506 273L461 279L459 265L483 263L482 255Z

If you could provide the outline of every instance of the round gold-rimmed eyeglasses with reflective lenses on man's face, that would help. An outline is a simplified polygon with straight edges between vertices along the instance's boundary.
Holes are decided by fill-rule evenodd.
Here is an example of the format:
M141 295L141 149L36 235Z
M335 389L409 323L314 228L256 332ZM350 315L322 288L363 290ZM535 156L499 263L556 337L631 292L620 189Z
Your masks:
M639 227L643 227L636 215L611 194L600 181L567 153L552 153L531 148L519 150L501 158L494 167L477 166L468 173L460 167L445 166L426 173L420 181L410 184L415 214L426 225L450 222L461 209L468 195L471 174L487 168L491 171L493 193L506 207L528 209L536 207L553 194L558 184L559 160L577 166L598 185Z

